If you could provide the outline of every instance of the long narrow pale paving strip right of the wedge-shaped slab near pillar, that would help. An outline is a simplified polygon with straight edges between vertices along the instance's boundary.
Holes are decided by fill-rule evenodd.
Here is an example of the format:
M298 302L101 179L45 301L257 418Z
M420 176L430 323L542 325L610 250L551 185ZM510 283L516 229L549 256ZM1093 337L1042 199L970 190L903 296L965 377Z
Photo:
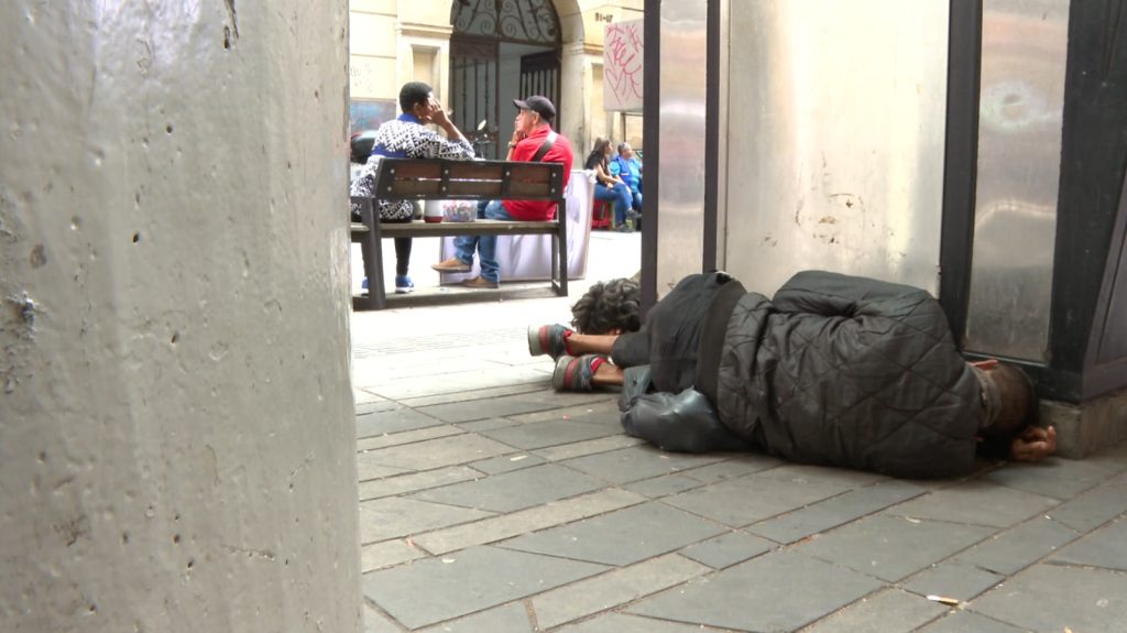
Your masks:
M416 536L415 544L428 552L442 554L471 545L494 543L538 529L554 527L633 506L645 500L644 497L612 488L469 525L432 532Z

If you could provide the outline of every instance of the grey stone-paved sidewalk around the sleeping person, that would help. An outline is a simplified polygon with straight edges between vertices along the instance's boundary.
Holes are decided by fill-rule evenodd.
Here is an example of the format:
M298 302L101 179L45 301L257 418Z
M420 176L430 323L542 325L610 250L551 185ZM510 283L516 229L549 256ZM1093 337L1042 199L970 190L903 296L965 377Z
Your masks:
M638 249L596 233L567 298L353 314L365 631L1127 631L1127 445L904 481L663 453L553 392L526 324Z

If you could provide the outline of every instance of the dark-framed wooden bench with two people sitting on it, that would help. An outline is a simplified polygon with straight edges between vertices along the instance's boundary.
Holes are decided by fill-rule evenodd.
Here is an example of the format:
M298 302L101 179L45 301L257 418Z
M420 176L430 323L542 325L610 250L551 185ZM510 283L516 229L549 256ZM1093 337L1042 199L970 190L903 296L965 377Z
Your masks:
M552 235L551 286L567 296L567 202L564 166L558 162L447 161L382 159L376 172L375 198L384 200L551 200L558 205L548 222L477 220L474 222L380 222L373 198L353 197L361 222L352 224L352 241L361 244L369 295L354 296L354 310L382 310L388 305L383 283L387 238L456 235Z

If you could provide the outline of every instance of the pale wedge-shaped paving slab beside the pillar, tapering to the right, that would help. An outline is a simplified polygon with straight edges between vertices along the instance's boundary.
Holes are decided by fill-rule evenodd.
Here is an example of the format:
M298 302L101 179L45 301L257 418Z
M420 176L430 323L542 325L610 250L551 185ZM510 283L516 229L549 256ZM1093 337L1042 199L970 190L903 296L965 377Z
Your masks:
M469 523L491 512L389 497L360 505L361 543L375 543Z

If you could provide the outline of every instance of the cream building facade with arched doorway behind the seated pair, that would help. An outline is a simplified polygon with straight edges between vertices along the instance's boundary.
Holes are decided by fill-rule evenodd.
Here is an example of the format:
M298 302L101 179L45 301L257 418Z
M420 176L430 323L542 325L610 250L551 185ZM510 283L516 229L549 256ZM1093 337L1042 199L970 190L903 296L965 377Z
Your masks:
M486 158L504 158L512 100L533 93L556 104L577 153L607 135L641 146L641 113L603 108L603 35L641 19L642 3L352 0L350 131L394 117L399 88L426 81Z

